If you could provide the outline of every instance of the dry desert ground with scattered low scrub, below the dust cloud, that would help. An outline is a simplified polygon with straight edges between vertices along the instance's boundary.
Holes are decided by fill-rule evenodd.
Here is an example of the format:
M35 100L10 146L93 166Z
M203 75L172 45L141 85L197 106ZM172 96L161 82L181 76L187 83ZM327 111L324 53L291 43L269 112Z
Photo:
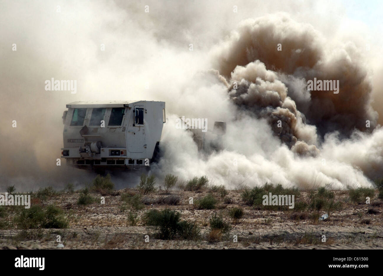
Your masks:
M251 188L228 191L223 186L210 186L196 191L174 188L142 193L139 189L89 189L85 193L91 202L80 204L84 193L79 191L56 192L41 189L31 196L31 209L54 205L61 210L58 215L67 223L62 229L23 226L30 214L22 206L1 206L0 248L3 249L383 249L383 203L378 199L378 189L371 189L370 204L353 202L347 190L326 190L341 206L334 209L310 208L310 200L318 193L299 191L298 202L306 202L300 209L287 206L265 208L248 204L244 192ZM3 193L4 194L4 193ZM215 199L214 206L206 209L199 199ZM310 199L311 196L311 199ZM360 195L363 199L363 194ZM190 199L193 198L193 204ZM101 201L105 199L105 203ZM135 200L133 200L135 199ZM199 205L200 204L200 205ZM298 204L299 206L299 204ZM269 206L270 207L270 206ZM274 206L275 207L275 206ZM209 209L212 208L212 209ZM237 208L241 215L231 215ZM25 209L25 210L22 210ZM180 212L180 220L193 223L198 235L171 239L159 238L158 230L146 223L145 214L151 210L170 209ZM318 210L319 209L319 210ZM326 211L327 210L327 211ZM329 218L319 217L329 212ZM211 217L218 216L226 231L213 229ZM20 219L21 218L21 219ZM59 219L58 219L59 220ZM33 229L35 228L35 229ZM219 227L218 227L219 228ZM61 240L57 242L57 235ZM323 239L325 235L325 240Z

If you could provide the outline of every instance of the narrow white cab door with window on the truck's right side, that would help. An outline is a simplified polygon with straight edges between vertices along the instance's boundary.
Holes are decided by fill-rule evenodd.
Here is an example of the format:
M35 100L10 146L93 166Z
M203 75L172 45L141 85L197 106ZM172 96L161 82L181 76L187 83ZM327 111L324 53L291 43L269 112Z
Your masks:
M128 129L129 152L144 152L146 150L145 114L143 105L134 106L133 118L129 121Z

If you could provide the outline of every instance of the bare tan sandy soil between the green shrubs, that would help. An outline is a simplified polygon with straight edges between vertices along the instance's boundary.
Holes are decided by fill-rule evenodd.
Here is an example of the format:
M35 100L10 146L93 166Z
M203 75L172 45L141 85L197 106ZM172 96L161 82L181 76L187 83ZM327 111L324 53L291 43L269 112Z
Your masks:
M173 191L180 197L177 206L159 204L145 205L138 211L136 226L130 226L127 219L129 210L121 209L121 193L137 193L134 189L120 190L120 195L105 196L105 204L100 204L101 195L92 193L98 198L97 203L88 206L78 205L79 192L73 194L61 193L54 196L43 205L57 204L64 209L69 217L70 226L67 229L29 230L28 235L21 235L22 230L0 230L0 248L57 248L56 236L61 235L64 249L95 249L95 248L249 248L249 249L383 249L383 204L374 206L379 213L368 214L367 204L347 202L347 191L334 191L337 200L343 200L342 211L335 211L326 221L310 218L312 211L307 210L308 217L301 220L292 218L293 211L265 211L253 206L246 206L241 200L241 191L228 191L232 204L223 204L218 193L213 193L219 199L219 204L213 210L198 210L189 204L189 198L194 200L205 196L209 191ZM149 199L166 196L161 191L148 194ZM308 196L308 191L301 192L302 197ZM374 199L371 200L374 202ZM375 202L376 199L375 194ZM242 207L244 216L234 221L228 214L232 207ZM153 229L142 223L142 216L150 209L180 211L181 219L196 221L201 228L201 238L198 240L159 240L155 239ZM224 220L232 226L230 232L221 240L209 242L209 219L214 214L222 214ZM324 214L325 212L319 212ZM369 219L370 224L362 224L363 219ZM149 242L145 242L149 235ZM234 242L234 235L237 242ZM321 242L326 235L326 242Z

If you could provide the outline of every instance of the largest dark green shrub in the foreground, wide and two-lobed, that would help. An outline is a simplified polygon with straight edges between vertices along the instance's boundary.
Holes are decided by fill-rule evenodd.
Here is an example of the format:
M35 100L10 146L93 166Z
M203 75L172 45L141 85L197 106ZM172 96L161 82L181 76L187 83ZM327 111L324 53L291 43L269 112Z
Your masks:
M144 216L144 223L154 226L156 229L155 237L171 240L174 238L194 239L200 234L200 230L195 223L180 220L179 212L165 209L162 211L150 210Z

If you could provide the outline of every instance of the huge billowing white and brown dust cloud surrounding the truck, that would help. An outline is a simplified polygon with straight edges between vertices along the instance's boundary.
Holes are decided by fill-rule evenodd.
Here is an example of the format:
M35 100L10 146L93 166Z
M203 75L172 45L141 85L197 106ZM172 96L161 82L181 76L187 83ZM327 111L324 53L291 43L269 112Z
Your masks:
M235 2L3 2L0 188L91 181L56 166L65 104L136 98L166 102L163 158L151 169L160 185L173 173L228 188L371 186L383 172L383 70L379 51L364 51L368 28L337 29L353 25L331 2ZM51 78L77 80L77 93L46 91ZM339 93L308 91L314 78L339 80ZM182 116L207 118L208 132L225 121L223 150L199 152L175 127Z

